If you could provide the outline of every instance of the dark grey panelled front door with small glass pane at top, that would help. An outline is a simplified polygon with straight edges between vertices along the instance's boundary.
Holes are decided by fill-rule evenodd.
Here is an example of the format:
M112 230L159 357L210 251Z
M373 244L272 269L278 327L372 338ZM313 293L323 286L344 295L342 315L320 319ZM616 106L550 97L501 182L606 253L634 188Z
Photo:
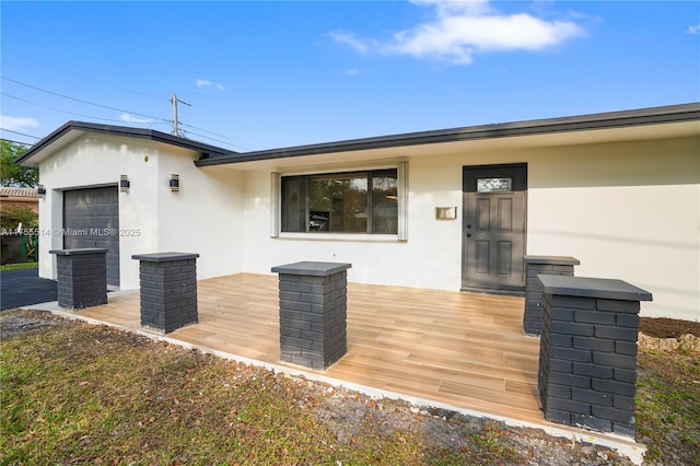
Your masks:
M464 290L524 290L526 194L526 164L464 167Z

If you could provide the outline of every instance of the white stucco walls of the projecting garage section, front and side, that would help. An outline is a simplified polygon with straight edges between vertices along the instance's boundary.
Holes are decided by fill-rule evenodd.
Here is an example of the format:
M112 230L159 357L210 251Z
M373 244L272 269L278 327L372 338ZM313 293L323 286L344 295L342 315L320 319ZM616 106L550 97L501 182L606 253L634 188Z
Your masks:
M192 163L197 156L152 141L89 135L43 162L39 177L47 194L39 201L39 276L56 279L56 260L48 252L62 248L62 193L116 186L120 175L131 185L128 194L119 193L122 290L139 288L133 254L199 253L199 278L241 271L241 174L199 170ZM170 190L171 173L180 176L179 193Z

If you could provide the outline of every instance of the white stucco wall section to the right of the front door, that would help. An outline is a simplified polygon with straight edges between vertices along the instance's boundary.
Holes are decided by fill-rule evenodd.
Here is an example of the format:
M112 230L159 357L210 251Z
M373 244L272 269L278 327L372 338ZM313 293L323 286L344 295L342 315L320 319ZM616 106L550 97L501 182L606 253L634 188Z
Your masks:
M571 255L575 273L653 294L642 315L700 319L698 139L533 154L528 252Z

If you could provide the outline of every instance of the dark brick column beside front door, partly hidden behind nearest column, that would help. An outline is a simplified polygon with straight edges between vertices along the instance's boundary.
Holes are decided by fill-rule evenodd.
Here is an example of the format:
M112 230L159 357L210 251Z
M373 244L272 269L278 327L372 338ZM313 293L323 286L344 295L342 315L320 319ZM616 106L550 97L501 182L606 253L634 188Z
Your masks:
M561 275L573 277L573 266L581 264L568 256L525 256L525 313L523 331L539 335L542 319L542 287L538 275Z

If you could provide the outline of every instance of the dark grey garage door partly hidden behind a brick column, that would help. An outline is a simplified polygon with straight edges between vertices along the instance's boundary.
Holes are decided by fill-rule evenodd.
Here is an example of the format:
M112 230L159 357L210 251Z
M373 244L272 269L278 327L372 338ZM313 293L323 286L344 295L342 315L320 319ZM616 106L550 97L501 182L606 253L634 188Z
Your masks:
M63 247L107 249L107 284L119 287L119 190L116 186L63 193Z

